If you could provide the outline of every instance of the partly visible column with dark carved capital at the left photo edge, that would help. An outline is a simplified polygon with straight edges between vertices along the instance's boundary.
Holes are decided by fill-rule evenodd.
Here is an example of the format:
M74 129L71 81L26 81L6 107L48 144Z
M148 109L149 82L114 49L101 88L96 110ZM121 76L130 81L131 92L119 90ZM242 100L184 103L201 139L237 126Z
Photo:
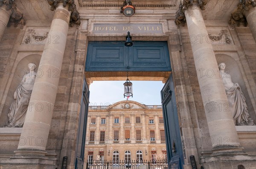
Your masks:
M15 28L17 27L18 23L21 23L20 28L23 29L23 26L26 24L26 19L20 10L17 9L15 1L1 0L0 7L0 39L2 39L3 32L11 16L11 22L15 23Z

